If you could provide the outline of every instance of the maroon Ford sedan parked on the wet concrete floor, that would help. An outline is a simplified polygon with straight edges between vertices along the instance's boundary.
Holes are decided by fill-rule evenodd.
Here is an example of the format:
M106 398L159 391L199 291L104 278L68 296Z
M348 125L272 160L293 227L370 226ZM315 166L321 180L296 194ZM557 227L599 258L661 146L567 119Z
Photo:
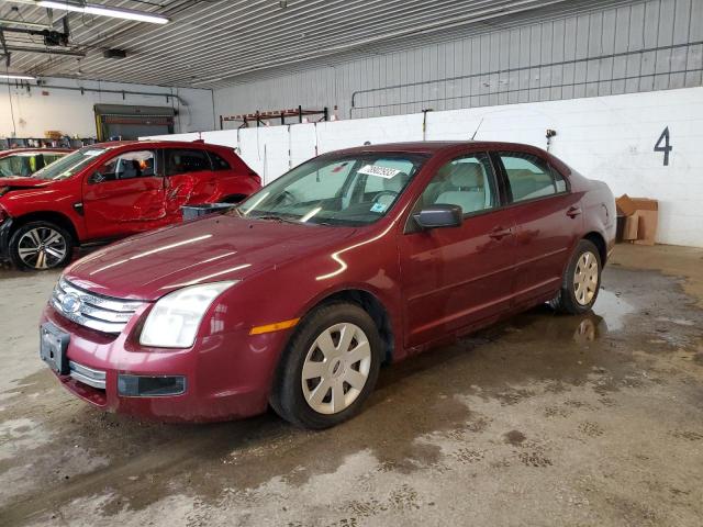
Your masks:
M532 146L335 152L226 215L72 265L41 355L103 410L202 422L270 404L324 428L383 363L544 302L590 310L614 235L609 188Z

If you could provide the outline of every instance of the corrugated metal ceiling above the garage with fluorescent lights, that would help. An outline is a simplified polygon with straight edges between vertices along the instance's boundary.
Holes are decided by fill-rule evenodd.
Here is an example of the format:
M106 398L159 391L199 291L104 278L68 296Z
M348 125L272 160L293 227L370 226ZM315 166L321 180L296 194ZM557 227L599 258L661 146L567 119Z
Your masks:
M85 58L15 52L10 69L60 77L75 77L80 69L90 79L216 87L355 51L368 55L392 41L421 42L439 32L489 24L562 1L288 0L284 9L275 0L103 1L163 13L171 22L160 26L70 13L70 48L85 52ZM8 1L0 3L0 18L48 21L43 8ZM41 37L15 33L5 37L10 45L43 47ZM125 49L127 58L103 58L104 49L115 47Z

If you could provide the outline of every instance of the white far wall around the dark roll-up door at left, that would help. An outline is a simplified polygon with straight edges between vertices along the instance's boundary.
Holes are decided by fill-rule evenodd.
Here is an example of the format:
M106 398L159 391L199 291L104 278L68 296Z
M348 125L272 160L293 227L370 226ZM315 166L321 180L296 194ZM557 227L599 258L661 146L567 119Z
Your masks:
M212 130L215 121L210 90L185 88L165 88L158 86L127 85L118 82L98 82L74 79L42 79L48 86L71 88L101 88L104 90L126 90L148 93L174 93L183 103L156 96L132 96L122 98L119 93L96 93L69 91L37 87L33 83L31 90L25 86L11 83L7 86L0 81L0 137L11 137L16 127L18 137L44 137L47 130L57 130L65 135L80 137L96 136L96 120L93 105L97 103L131 104L148 106L174 106L179 111L176 121L178 132ZM43 94L43 92L48 94ZM14 111L14 127L12 112Z

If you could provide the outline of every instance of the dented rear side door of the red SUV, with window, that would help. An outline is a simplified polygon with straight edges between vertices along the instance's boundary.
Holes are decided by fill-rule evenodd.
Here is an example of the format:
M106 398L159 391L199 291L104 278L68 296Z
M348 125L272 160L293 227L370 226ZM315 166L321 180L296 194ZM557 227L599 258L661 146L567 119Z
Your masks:
M211 203L216 195L216 177L204 149L166 148L166 211L180 221L181 206Z

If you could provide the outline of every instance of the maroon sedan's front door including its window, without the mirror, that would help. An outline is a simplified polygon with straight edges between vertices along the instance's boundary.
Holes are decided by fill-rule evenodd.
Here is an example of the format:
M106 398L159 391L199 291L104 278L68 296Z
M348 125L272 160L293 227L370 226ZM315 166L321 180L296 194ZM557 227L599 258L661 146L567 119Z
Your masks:
M409 347L470 329L510 306L514 220L501 205L488 154L442 166L413 212L443 203L462 208L461 226L421 229L411 214L399 242Z

